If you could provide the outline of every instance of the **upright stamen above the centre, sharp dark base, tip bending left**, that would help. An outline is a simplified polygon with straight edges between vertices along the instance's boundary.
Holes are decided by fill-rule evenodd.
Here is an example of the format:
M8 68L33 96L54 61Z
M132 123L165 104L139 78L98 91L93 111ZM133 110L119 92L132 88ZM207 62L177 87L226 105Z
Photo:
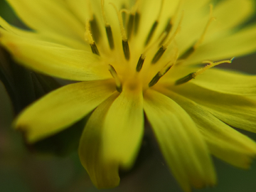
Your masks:
M129 60L129 58L130 58L129 43L127 41L127 36L124 31L124 24L122 21L122 16L121 16L120 12L117 10L117 7L112 3L110 3L110 4L114 7L114 10L117 12L117 17L119 20L119 26L120 26L121 36L122 36L122 47L123 47L123 51L124 51L124 57L127 60Z

